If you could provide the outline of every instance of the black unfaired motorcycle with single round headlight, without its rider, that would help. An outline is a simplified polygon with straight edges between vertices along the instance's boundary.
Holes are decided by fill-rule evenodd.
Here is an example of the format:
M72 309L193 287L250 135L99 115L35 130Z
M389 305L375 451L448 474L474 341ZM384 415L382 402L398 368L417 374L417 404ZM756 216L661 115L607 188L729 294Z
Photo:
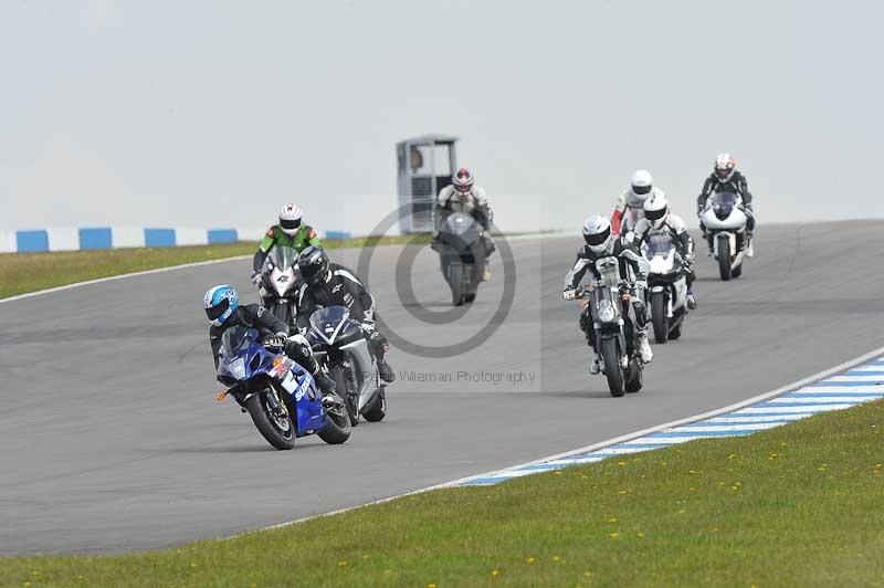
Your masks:
M620 276L617 258L596 260L596 269L600 277L579 292L578 298L589 300L601 370L611 396L638 392L644 384L644 363L639 355L629 284Z

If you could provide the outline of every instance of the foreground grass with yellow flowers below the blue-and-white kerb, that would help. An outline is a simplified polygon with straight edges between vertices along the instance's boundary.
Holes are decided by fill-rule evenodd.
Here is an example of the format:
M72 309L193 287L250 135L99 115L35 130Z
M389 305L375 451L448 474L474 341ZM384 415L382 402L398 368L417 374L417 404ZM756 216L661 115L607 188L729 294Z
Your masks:
M878 401L230 540L0 559L0 585L881 586L882 431Z

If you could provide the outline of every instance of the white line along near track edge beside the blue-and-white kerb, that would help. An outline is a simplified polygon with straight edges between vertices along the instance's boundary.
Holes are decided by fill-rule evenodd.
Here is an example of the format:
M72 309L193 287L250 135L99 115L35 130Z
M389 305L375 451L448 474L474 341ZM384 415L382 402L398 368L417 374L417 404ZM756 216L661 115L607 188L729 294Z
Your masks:
M511 465L509 468L503 468L501 470L493 470L491 472L485 472L485 473L481 473L481 474L467 475L467 476L461 477L459 480L452 480L451 482L443 482L441 484L435 484L435 485L432 485L432 486L427 486L427 487L423 487L423 489L413 490L411 492L403 492L402 494L396 494L394 496L388 496L386 498L380 498L380 500L367 502L367 503L364 503L364 504L357 504L357 505L354 505L354 506L346 506L344 508L338 508L338 510L332 511L329 513L322 513L322 514L316 514L316 515L304 516L304 517L301 517L301 518L296 518L294 521L286 521L285 523L277 523L276 525L270 525L270 526L266 526L266 527L261 527L261 528L256 528L256 529L252 529L252 531L246 531L246 532L243 532L243 533L238 533L238 534L231 535L229 537L223 537L223 538L221 538L219 540L235 539L238 537L242 537L242 536L245 536L245 535L251 535L251 534L254 534L254 533L261 533L262 531L273 531L273 529L277 529L277 528L288 527L288 526L292 526L292 525L298 525L301 523L306 523L306 522L313 521L315 518L325 518L327 516L335 516L335 515L338 515L338 514L348 513L350 511L356 511L358 508L366 508L368 506L376 506L378 504L386 504L386 503L394 501L397 498L403 498L406 496L413 496L415 494L423 494L424 492L431 492L433 490L459 487L462 484L464 484L466 482L470 482L471 480L478 480L478 479L482 479L482 477L492 477L494 475L499 475L503 472L512 472L514 470L518 470L519 468L525 468L526 465L534 465L534 464L537 464L537 463L545 463L545 462L552 461L552 460L560 460L560 459L565 459L565 458L570 456L570 455L576 455L576 454L579 454L579 453L588 453L590 451L596 451L596 450L603 449L603 448L607 448L607 447L610 447L610 445L615 445L615 444L619 444L619 443L623 443L624 441L630 441L630 440L633 440L633 439L638 439L640 437L644 437L644 435L650 434L650 433L655 433L657 431L661 431L663 429L669 429L671 427L678 427L678 426L682 426L682 424L688 424L688 423L692 423L692 422L696 422L696 421L701 421L701 420L705 420L705 419L711 419L713 417L719 417L719 416L722 416L724 413L733 412L734 410L738 410L740 408L746 408L747 406L754 405L756 402L760 402L762 400L767 400L768 398L774 398L776 396L785 395L787 392L792 392L792 391L794 391L794 390L797 390L799 388L802 388L802 387L804 387L804 386L807 386L809 384L813 384L814 381L819 381L819 380L825 379L827 377L831 376L832 374L838 374L840 371L848 370L848 369L850 369L852 367L855 367L855 366L857 366L860 364L869 361L870 359L873 359L873 358L875 358L877 356L881 356L881 355L884 355L884 347L878 347L877 349L874 349L872 351L863 354L860 357L855 357L853 359L849 359L849 360L844 361L843 364L840 364L838 366L831 367L831 368L825 369L823 371L818 371L817 374L814 374L812 376L808 376L807 378L800 379L798 381L793 381L791 384L787 384L786 386L781 386L781 387L779 387L779 388L777 388L775 390L771 390L769 392L765 392L765 393L761 393L761 395L758 395L758 396L754 396L753 398L748 398L746 400L741 400L739 402L735 402L733 405L728 405L728 406L723 407L723 408L711 410L711 411L704 412L702 414L695 414L693 417L686 417L684 419L678 419L678 420L675 420L675 421L665 422L663 424L657 424L655 427L650 427L648 429L642 429L641 431L635 431L635 432L632 432L632 433L627 433L627 434L621 435L621 437L615 437L613 439L609 439L608 441L601 441L601 442L598 442L598 443L593 443L591 445L582 447L580 449L575 449L575 450L571 450L571 451L565 451L562 453L556 453L554 455L548 455L546 458L540 458L539 460L534 460L534 461L529 461L529 462L525 462L525 463L519 463L517 465ZM799 420L801 420L801 419L799 419ZM722 438L722 439L732 439L732 438ZM649 450L648 451L653 451L653 449L650 449L650 445L649 445ZM601 460L599 460L599 461L601 461Z

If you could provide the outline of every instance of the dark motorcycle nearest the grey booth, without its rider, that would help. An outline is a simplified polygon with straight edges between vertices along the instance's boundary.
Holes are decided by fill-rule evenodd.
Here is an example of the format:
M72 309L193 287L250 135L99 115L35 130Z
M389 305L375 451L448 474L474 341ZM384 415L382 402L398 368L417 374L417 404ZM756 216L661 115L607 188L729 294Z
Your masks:
M439 253L454 306L473 302L486 256L482 225L470 214L452 212L442 220L431 246Z

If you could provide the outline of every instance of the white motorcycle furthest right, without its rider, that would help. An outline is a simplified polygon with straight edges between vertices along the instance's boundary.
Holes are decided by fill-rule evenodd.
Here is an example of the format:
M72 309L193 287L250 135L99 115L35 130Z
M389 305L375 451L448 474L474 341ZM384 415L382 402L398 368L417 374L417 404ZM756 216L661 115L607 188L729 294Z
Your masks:
M706 227L709 249L718 261L718 273L725 282L743 274L746 255L748 218L743 211L743 198L732 192L718 192L706 200L701 216Z

